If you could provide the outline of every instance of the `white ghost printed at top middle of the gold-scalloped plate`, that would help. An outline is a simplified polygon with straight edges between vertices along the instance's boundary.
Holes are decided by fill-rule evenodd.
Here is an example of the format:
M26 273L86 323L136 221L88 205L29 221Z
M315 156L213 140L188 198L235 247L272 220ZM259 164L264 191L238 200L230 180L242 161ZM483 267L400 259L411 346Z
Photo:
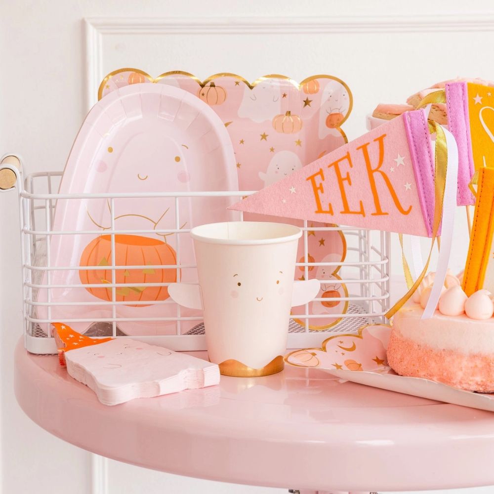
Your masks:
M252 122L272 120L281 112L280 83L271 79L256 84L252 89L247 85L240 104L238 116Z

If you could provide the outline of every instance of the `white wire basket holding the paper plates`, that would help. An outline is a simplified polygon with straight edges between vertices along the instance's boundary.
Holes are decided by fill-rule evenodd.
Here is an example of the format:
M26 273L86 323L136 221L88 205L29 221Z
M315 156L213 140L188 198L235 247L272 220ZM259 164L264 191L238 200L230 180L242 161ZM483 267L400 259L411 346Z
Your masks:
M8 165L7 165L8 167ZM2 168L0 166L0 168ZM87 285L56 285L51 283L51 273L55 270L84 270L84 269L103 269L98 266L54 266L53 260L50 258L50 241L55 235L95 235L101 232L96 231L63 231L55 232L51 229L53 216L57 200L79 201L84 198L94 198L94 194L73 194L60 195L54 191L58 190L62 172L40 172L33 173L26 177L23 181L22 172L15 167L11 167L16 174L17 181L15 187L9 190L16 190L19 196L19 216L20 216L20 234L21 234L21 257L22 257L22 282L23 282L23 317L24 317L24 334L25 346L28 351L37 354L52 354L56 353L54 339L49 337L46 329L50 323L58 320L51 318L51 312L55 306L68 304L71 306L81 306L89 302L71 301L71 302L52 302L50 291L57 288L90 288ZM24 186L19 186L23 184ZM180 236L188 235L190 229L180 228L178 224L178 205L181 198L217 198L231 197L232 200L240 200L242 197L250 195L255 191L235 191L235 192L190 192L190 193L173 193L167 192L163 194L152 194L153 197L163 197L168 201L174 200L176 211L175 217L177 224L173 229L163 230L160 233L173 233ZM139 197L147 197L146 194L108 194L98 195L108 200L112 214L112 229L106 230L104 233L111 236L112 246L115 247L115 235L125 233L156 233L153 231L122 231L115 228L114 222L114 201L118 198L128 197L135 199ZM241 214L241 213L239 213ZM194 225L196 226L196 225ZM309 262L307 252L307 235L308 231L341 231L346 240L346 256L342 262ZM390 238L389 233L380 231L371 231L353 227L333 226L333 227L308 227L307 221L303 223L304 241L304 256L301 259L303 262L297 263L297 269L304 273L305 279L309 279L309 271L317 266L329 266L331 269L336 269L340 266L338 275L341 278L340 283L345 284L348 296L333 297L335 302L347 301L347 310L341 314L331 314L332 317L339 321L324 330L310 329L311 322L318 318L327 316L311 314L309 304L305 305L303 314L290 316L288 328L288 348L302 348L319 346L321 342L332 334L356 332L360 327L379 323L384 321L384 314L389 308L389 251ZM177 241L178 242L178 241ZM112 248L115 251L115 248ZM107 317L96 318L94 320L84 320L88 323L88 329L85 334L90 336L116 336L128 337L122 331L123 323L143 322L149 320L146 317L124 318L118 313L120 302L117 300L116 292L119 288L131 287L129 284L116 283L116 272L122 269L146 269L146 268L173 268L177 270L177 280L180 279L182 269L194 269L195 265L181 264L180 249L177 249L177 259L174 265L133 265L121 266L116 265L115 255L108 266L104 269L111 270L112 279L106 287L111 290L112 298L109 301L97 300L90 302L92 305L101 305L107 309ZM143 285L140 283L139 285ZM153 287L166 287L169 283L149 283L144 284ZM46 290L46 301L40 301L37 294L39 290ZM323 299L316 299L323 300ZM142 304L149 302L143 302ZM153 302L153 305L174 304L171 300L162 300ZM138 305L138 303L137 303ZM176 305L176 304L175 304ZM40 317L39 307L43 307L45 317ZM220 310L221 308L218 308ZM78 323L82 320L79 318L67 318L64 323ZM138 336L131 335L135 339L163 345L172 350L194 351L206 350L206 339L204 336L204 324L201 314L184 315L180 307L176 306L176 313L166 316L153 317L152 321L163 323L171 330L168 334L139 334ZM171 333L170 333L171 331Z

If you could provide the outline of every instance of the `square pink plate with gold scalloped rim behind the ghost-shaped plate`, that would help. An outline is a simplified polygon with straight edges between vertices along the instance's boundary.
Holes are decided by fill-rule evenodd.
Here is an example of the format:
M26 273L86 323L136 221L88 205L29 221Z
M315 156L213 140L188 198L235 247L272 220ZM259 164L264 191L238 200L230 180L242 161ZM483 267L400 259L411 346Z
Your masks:
M206 102L221 118L235 151L241 190L259 190L284 178L347 142L341 129L352 109L352 93L341 80L327 75L311 76L297 83L285 76L264 76L253 83L235 74L216 74L201 82L187 72L173 71L154 79L138 69L120 69L103 79L99 97L135 83L180 87ZM296 194L296 190L289 191ZM246 220L275 221L303 226L301 221L245 214ZM322 223L312 226L323 227ZM309 329L324 330L337 324L348 308L347 288L337 271L346 254L340 231L309 231L308 261L330 262L297 269L297 278L323 280L318 299L308 306ZM299 242L299 262L304 262L304 238ZM336 264L335 264L336 263ZM294 308L303 315L305 306ZM296 320L305 326L305 319Z

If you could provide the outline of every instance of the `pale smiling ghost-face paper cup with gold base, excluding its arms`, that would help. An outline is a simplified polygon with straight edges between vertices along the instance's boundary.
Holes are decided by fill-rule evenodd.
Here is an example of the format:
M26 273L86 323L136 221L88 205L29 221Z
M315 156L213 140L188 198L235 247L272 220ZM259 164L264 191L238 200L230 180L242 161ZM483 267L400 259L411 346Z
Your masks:
M212 223L191 231L209 360L224 375L282 371L300 228Z

